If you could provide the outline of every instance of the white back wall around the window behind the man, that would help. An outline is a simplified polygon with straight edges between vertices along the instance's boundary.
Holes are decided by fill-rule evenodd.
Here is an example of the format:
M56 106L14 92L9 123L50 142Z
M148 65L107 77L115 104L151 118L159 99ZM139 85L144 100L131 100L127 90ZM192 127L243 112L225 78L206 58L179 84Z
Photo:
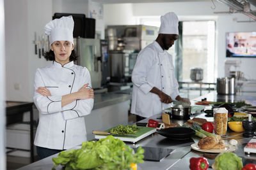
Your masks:
M212 10L212 8L215 9ZM254 7L252 6L252 10ZM216 76L224 76L225 32L255 31L256 22L237 23L237 20L249 20L243 14L216 15L214 11L229 11L228 6L214 1L182 2L182 3L136 3L136 4L104 4L105 27L107 25L139 24L138 18L161 16L174 11L180 20L216 20ZM118 15L117 15L118 14ZM256 80L256 59L241 60L241 71L246 77Z

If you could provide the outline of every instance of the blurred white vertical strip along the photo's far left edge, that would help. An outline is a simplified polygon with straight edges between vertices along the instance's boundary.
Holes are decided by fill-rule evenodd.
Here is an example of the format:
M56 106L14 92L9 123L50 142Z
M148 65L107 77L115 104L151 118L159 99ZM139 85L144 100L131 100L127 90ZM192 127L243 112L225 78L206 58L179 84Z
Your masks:
M6 169L5 157L5 84L4 84L4 1L0 0L0 169Z

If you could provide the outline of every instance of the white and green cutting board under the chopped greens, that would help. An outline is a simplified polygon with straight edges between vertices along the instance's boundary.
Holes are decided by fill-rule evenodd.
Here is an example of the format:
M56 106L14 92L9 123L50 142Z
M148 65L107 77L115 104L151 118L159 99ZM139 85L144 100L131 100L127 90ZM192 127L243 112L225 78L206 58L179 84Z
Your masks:
M134 137L122 137L122 136L113 136L113 137L116 139L120 139L122 141L129 141L132 143L136 143L137 141L140 141L141 139L156 132L156 128L154 127L143 127L143 126L138 126L138 127L139 127L139 130L136 134L127 134L127 135L132 135ZM110 129L106 130L106 132L109 132L109 131ZM95 134L95 139L102 139L102 138L106 138L106 135Z

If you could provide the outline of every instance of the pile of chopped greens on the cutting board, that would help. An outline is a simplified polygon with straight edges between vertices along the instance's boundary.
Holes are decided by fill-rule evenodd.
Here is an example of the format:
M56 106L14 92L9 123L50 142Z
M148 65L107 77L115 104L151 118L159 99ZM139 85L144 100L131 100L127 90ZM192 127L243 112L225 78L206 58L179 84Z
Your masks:
M136 134L138 130L139 127L137 125L118 125L110 129L109 132L111 132L111 134Z

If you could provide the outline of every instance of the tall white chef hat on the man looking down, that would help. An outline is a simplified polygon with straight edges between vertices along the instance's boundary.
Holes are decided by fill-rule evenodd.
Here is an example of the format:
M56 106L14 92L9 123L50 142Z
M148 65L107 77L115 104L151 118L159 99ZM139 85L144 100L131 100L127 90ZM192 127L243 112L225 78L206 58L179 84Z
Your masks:
M179 34L178 30L179 19L173 12L166 13L161 16L161 25L159 34Z

